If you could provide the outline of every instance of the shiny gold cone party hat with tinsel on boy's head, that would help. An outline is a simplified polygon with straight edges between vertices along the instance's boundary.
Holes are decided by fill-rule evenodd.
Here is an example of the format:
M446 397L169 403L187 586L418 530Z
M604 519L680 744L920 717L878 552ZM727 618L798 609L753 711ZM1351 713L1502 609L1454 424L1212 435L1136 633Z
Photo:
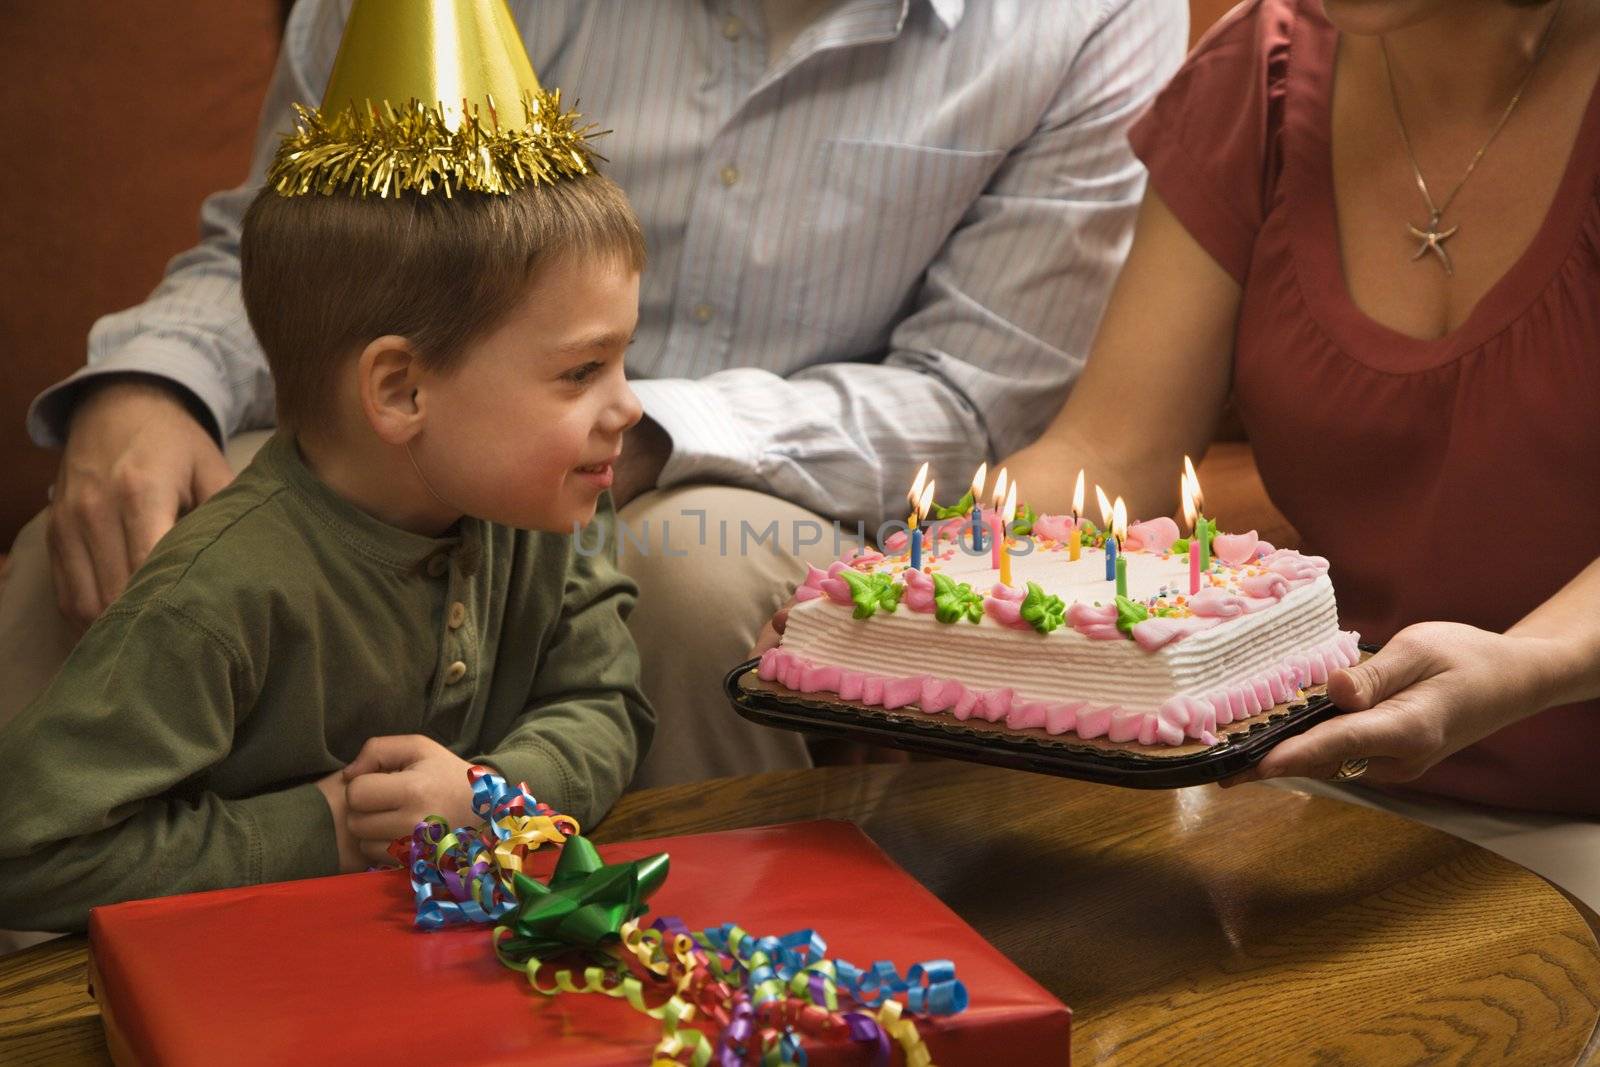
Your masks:
M355 0L322 107L294 106L283 197L506 194L603 158L528 62L506 0Z

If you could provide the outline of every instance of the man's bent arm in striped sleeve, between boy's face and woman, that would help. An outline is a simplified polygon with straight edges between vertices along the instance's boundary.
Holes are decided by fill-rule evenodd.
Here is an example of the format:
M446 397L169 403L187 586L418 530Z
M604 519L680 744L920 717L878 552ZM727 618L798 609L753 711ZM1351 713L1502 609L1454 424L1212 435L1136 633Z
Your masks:
M1186 32L1179 3L1107 5L1043 122L930 264L882 363L635 381L670 437L656 483L746 485L882 522L904 514L922 462L962 478L949 499L979 462L1037 437L1126 253L1144 189L1128 126L1178 69Z

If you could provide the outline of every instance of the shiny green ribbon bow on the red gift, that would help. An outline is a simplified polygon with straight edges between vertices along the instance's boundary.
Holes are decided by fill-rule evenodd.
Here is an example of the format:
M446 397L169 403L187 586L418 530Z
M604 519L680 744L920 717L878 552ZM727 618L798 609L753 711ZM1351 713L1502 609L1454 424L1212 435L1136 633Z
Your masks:
M507 917L510 937L498 944L502 958L528 960L570 950L602 950L621 939L630 918L650 910L645 901L667 880L667 854L606 864L586 837L570 837L549 885L517 873L517 910Z

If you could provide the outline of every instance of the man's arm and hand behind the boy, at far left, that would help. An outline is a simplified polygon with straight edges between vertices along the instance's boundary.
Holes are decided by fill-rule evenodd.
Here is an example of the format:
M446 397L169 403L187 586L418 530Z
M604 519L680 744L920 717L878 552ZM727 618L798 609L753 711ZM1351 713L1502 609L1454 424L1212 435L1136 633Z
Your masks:
M59 609L78 625L122 593L179 514L227 485L222 438L272 422L272 379L238 293L240 221L290 104L315 99L309 80L326 78L338 18L334 3L294 8L248 179L206 200L200 245L146 302L94 323L88 366L29 410L34 440L64 448L50 561Z

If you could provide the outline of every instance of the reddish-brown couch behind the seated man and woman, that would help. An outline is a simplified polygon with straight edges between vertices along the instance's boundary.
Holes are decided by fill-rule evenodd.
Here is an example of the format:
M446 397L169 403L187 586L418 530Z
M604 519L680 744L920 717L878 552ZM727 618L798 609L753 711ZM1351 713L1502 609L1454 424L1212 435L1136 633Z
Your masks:
M1229 5L1192 0L1192 35ZM45 502L56 454L29 400L83 363L96 317L141 301L195 240L200 200L238 182L288 0L59 0L6 13L11 208L0 213L0 550ZM1275 544L1243 435L1202 464L1208 510ZM3 560L3 555L0 555Z

